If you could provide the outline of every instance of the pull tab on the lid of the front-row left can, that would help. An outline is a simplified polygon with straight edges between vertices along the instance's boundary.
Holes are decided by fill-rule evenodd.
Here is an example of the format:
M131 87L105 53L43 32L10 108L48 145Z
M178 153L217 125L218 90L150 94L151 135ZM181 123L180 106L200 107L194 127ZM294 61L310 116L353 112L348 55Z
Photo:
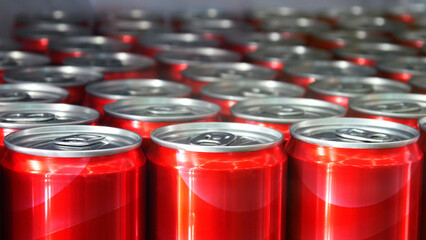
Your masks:
M88 147L100 143L104 139L104 136L95 134L75 134L56 138L53 143L60 147Z

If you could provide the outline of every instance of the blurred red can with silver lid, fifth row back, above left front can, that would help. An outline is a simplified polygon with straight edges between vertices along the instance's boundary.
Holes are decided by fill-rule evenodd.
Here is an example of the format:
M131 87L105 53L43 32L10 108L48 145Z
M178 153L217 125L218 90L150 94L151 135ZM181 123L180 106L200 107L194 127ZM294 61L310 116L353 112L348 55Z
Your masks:
M88 53L66 58L64 65L92 68L103 73L104 80L156 78L151 58L131 53Z

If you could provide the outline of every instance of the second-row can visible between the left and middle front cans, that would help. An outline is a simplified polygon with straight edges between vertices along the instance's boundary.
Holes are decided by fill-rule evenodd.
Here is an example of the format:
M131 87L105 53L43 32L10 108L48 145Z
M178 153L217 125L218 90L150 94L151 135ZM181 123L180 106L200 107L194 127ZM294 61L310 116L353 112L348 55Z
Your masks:
M157 128L188 122L220 122L220 107L190 98L142 97L119 100L104 106L104 125L135 132L146 151L151 132Z

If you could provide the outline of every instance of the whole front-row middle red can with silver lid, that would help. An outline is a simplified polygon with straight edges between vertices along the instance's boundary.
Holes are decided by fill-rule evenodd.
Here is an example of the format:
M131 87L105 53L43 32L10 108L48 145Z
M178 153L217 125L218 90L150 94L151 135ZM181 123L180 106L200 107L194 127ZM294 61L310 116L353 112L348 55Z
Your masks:
M282 134L241 123L154 130L148 149L148 239L284 239Z

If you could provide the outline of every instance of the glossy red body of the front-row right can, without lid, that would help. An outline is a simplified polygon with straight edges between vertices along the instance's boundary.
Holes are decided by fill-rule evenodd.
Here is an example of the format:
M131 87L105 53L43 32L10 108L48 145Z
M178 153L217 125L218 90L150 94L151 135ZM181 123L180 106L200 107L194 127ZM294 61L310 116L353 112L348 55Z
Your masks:
M287 239L418 239L423 154L317 146L291 138Z

